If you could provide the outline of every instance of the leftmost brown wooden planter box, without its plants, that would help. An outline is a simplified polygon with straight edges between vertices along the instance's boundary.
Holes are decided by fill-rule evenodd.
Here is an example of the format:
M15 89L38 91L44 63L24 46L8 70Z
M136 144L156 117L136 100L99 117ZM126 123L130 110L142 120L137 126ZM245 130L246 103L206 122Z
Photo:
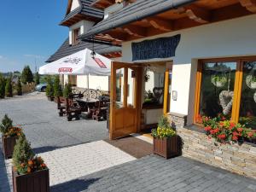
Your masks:
M18 139L18 137L16 137L16 136L15 137L3 137L2 136L3 155L4 155L5 159L12 158L17 139Z

